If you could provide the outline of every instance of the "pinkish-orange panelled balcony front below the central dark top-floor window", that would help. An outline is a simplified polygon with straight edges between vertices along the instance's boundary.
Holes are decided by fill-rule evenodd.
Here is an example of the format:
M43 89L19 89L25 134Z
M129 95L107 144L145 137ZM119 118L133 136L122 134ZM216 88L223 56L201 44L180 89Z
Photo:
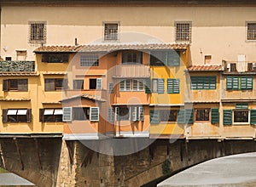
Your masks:
M148 65L116 65L113 77L150 77Z

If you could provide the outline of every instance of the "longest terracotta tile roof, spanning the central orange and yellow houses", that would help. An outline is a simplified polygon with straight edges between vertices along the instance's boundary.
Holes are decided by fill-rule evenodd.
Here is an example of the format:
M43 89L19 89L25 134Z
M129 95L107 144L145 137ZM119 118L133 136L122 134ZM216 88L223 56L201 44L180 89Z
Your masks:
M51 52L111 52L117 50L157 50L157 49L179 49L185 50L187 43L152 43L152 44L93 44L80 46L42 46L36 48L34 53L51 53Z

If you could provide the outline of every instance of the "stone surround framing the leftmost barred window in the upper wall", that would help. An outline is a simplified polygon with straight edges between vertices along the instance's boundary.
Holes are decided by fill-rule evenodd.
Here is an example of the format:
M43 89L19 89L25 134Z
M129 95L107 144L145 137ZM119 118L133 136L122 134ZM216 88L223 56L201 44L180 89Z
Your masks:
M46 43L46 35L47 35L47 33L46 33L46 26L47 26L47 21L29 21L28 25L29 25L28 42L29 43L36 43L36 44ZM37 26L36 29L39 29L39 31L37 31L39 33L39 36L38 36L38 33L35 36L33 36L33 33L35 33L35 32L32 31L33 30L32 25L39 25L39 26L43 25L42 38L39 38L39 37L41 37L40 36L40 32L41 32L40 29L42 29L42 28L38 28L38 26ZM35 38L35 37L37 37L37 38Z

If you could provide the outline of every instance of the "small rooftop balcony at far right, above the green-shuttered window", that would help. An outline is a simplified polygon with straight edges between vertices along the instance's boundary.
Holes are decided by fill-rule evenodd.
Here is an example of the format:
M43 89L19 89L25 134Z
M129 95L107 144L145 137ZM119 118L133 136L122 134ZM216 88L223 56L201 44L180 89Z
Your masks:
M239 74L247 72L249 74L256 74L256 61L222 61L224 66L224 73Z

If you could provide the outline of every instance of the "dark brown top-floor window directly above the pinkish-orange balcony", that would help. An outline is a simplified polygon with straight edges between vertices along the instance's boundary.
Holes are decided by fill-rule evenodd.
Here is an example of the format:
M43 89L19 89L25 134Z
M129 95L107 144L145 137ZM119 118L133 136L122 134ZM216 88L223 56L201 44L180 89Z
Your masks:
M122 63L131 64L143 64L143 53L137 51L124 51L122 53Z

